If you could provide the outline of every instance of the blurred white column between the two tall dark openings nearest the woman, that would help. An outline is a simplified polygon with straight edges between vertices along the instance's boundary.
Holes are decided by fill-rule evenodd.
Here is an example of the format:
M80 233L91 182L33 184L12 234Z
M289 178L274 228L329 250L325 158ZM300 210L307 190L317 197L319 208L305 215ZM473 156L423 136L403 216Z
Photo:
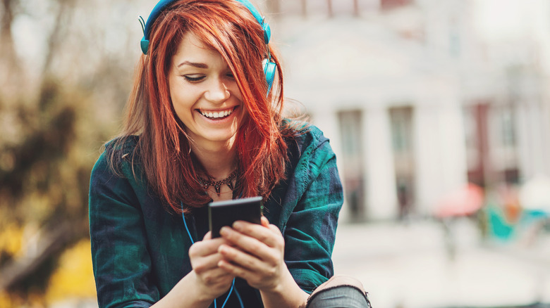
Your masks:
M389 115L385 108L367 110L365 135L367 217L373 220L394 219L398 216L396 177Z

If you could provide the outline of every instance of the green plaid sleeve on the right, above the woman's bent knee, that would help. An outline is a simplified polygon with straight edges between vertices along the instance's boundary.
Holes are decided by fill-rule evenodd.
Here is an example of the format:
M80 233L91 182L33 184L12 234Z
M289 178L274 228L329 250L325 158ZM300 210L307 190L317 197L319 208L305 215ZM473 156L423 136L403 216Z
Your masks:
M336 156L329 139L318 129L312 136L290 179L287 202L295 202L295 207L286 207L293 210L282 213L283 221L286 220L285 262L307 293L334 275L331 255L343 203Z

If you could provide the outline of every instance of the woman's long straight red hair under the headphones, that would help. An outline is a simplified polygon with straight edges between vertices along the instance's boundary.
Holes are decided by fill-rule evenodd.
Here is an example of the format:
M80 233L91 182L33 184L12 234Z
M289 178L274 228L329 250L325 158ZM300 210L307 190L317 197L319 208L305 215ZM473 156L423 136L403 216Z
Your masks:
M283 75L277 56L264 43L262 27L250 11L234 0L179 0L166 8L152 25L148 56L136 69L126 118L117 143L140 135L132 155L138 159L151 188L176 212L188 212L211 198L197 181L204 171L190 154L188 136L173 110L169 91L169 68L183 34L193 32L218 51L236 78L247 117L236 136L241 175L236 193L261 195L284 178L288 160L283 136ZM270 49L278 75L267 96L262 60ZM120 147L116 147L120 148ZM138 155L135 155L138 154ZM111 163L116 161L111 155ZM183 207L181 207L183 203Z

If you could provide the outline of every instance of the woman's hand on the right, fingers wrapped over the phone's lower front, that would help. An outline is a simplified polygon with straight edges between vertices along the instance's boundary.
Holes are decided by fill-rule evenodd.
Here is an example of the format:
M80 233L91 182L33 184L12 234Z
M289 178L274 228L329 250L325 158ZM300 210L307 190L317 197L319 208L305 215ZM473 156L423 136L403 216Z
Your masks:
M284 239L279 228L262 217L262 224L235 222L220 231L227 243L219 245L218 267L239 276L258 290L273 292L288 273L284 263ZM230 245L228 245L230 244Z

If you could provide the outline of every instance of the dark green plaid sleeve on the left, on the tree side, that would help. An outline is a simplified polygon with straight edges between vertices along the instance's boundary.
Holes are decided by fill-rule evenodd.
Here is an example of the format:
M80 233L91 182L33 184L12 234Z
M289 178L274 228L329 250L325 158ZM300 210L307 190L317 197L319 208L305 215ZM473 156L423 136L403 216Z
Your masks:
M123 162L123 174L131 174ZM99 307L149 307L152 283L143 214L128 176L115 174L103 153L90 179L90 238Z

